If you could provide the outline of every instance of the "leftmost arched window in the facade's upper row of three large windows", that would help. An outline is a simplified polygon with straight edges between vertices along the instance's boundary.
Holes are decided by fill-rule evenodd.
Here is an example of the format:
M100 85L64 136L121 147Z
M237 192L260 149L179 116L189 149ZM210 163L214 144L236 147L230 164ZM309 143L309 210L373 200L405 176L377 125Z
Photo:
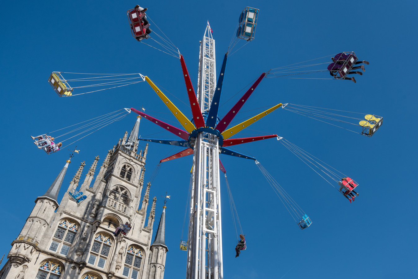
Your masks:
M79 226L72 221L66 219L59 221L49 250L53 252L59 251L59 254L66 256L78 230Z

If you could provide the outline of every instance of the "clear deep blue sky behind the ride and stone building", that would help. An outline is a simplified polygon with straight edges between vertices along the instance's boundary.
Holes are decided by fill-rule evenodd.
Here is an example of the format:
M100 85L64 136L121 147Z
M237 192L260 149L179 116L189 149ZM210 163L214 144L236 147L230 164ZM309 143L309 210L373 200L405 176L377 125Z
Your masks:
M45 193L68 159L66 150L52 155L37 150L30 135L124 107L144 107L155 117L180 127L146 83L59 98L47 82L52 71L141 73L169 91L168 97L191 117L178 59L138 43L130 35L125 12L136 4L78 0L3 4L0 170L7 196L2 203L0 254L8 254L33 201ZM298 228L253 161L222 157L248 247L234 258L236 236L224 187L225 278L418 276L413 268L418 229L414 186L416 1L164 0L139 4L148 8L147 15L184 55L194 82L206 20L214 31L219 71L241 10L246 6L260 9L255 40L229 57L221 104L237 95L220 108L222 116L244 93L238 93L241 89L271 68L342 51L355 51L360 60L370 61L363 76L356 76L356 84L329 79L264 79L245 104L242 111L282 102L364 112L384 117L384 123L368 138L277 109L250 127L257 131L237 134L279 134L354 178L360 184L360 195L350 204L275 139L237 147L237 151L257 157L313 224L303 231ZM326 72L323 75L329 77ZM242 112L237 119L263 110ZM135 116L130 114L76 143L81 152L69 167L64 190L79 162L86 161L89 167L99 155L102 164L107 150L132 129ZM143 137L174 138L161 131L141 121ZM149 180L159 160L179 150L150 144L145 180ZM158 212L163 206L161 195L166 191L171 195L166 210L166 278L184 278L185 274L186 252L178 249L178 243L191 159L163 163L151 188L150 194L158 198Z

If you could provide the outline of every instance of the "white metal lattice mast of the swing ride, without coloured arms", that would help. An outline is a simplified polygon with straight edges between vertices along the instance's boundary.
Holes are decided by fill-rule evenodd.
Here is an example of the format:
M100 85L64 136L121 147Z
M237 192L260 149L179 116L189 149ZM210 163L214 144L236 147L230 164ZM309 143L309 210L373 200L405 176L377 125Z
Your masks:
M201 112L206 117L216 87L215 41L209 23L201 41L199 56L197 98ZM199 132L194 145L188 279L223 278L218 141L219 138L210 132Z

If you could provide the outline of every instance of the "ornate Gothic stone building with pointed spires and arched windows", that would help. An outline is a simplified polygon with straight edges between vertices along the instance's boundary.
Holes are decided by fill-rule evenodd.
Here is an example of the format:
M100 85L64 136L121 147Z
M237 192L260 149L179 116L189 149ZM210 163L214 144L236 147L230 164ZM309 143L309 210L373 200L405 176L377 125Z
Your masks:
M129 138L126 132L107 152L95 178L99 156L94 158L79 185L82 162L58 203L67 160L51 187L36 198L22 231L11 243L0 279L163 279L168 251L165 208L151 244L156 198L148 214L150 183L142 196L148 144L138 152L139 123L140 117ZM79 200L78 194L86 198ZM116 228L126 222L131 224L130 231L114 236ZM158 274L155 265L161 270Z

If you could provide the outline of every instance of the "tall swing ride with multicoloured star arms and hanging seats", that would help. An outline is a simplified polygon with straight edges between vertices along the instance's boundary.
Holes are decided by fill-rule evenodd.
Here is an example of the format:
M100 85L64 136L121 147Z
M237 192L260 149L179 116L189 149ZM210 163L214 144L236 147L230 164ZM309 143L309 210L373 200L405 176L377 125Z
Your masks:
M134 9L127 10L127 17L129 20L131 34L140 43L144 43L145 40L143 39L147 39L147 41L148 39L150 39L149 41L157 42L149 35L151 33L151 30L149 28L150 23L148 22L149 17L147 19L147 16L145 15L145 10L146 8L140 8L139 5L137 5ZM172 140L143 137L139 138L139 140L142 141L184 147L184 150L181 150L180 152L174 155L161 159L160 163L171 161L181 157L186 157L188 155L193 155L193 166L191 170L191 181L189 187L190 196L188 203L188 238L187 241L183 241L182 239L180 241L180 249L182 251L187 251L186 278L189 279L223 278L221 195L219 170L223 172L225 176L227 193L229 195L229 205L233 213L232 215L234 216L233 220L235 230L237 233L237 239L239 239L237 225L240 228L240 236L243 235L242 227L238 219L237 209L232 198L232 192L229 188L229 183L227 181L226 171L219 160L219 154L254 160L255 164L260 169L262 174L265 176L266 180L273 188L275 193L278 195L278 197L280 198L283 205L288 210L298 227L301 230L303 230L305 228L308 228L312 224L311 218L301 209L301 207L295 202L295 200L293 200L293 198L291 198L290 195L288 195L284 188L282 188L282 186L279 185L279 183L260 164L260 162L256 160L255 157L236 152L227 147L240 145L248 142L260 141L264 139L272 139L273 137L276 137L280 141L280 143L283 144L283 146L285 146L293 154L299 157L304 163L306 163L306 165L311 167L312 170L317 172L322 178L324 178L324 180L331 184L331 186L336 188L335 185L342 185L342 187L339 188L339 192L342 193L344 197L349 199L350 203L352 202L352 200L354 200L353 193L357 194L358 196L358 193L355 192L355 188L357 188L358 186L357 182L347 177L347 175L344 175L342 172L335 170L333 167L327 165L326 163L322 162L321 160L309 154L308 152L302 150L300 147L297 147L296 145L292 144L288 140L283 139L283 137L278 137L277 134L256 137L231 137L241 132L243 129L246 129L251 124L257 122L261 118L272 113L273 111L275 111L275 109L278 109L279 107L323 122L336 121L342 125L355 125L357 126L358 130L352 132L363 134L367 137L371 137L377 131L377 129L380 128L382 124L383 118L374 114L363 114L364 117L359 118L357 115L358 113L354 112L337 111L334 109L324 109L319 107L310 107L296 104L279 103L263 112L258 113L253 117L250 117L249 119L245 120L244 122L241 122L240 124L234 125L233 127L229 127L234 117L240 112L240 109L244 106L248 98L250 98L252 93L257 88L258 84L260 84L260 82L264 78L296 78L290 76L300 74L314 74L329 71L329 73L332 76L332 79L350 79L356 82L353 77L349 78L348 75L353 74L352 70L356 70L357 68L361 68L363 71L365 71L365 69L364 66L355 65L359 63L369 64L367 61L358 61L358 58L354 52L343 52L338 53L331 58L332 63L329 64L327 69L307 71L305 68L328 64L329 61L315 64L303 64L304 62L301 62L288 66L270 69L269 71L262 73L255 80L255 82L252 83L252 85L247 89L245 94L242 95L242 97L237 101L237 103L221 119L221 117L219 116L219 104L222 95L222 85L226 74L227 58L229 55L232 54L232 49L234 48L234 46L237 45L237 43L239 43L240 41L247 41L246 43L248 43L254 39L258 14L259 10L251 7L246 7L240 13L238 26L235 33L236 38L234 38L234 41L231 41L228 51L224 55L218 79L216 79L217 75L215 63L216 59L214 38L212 36L212 29L210 28L209 22L207 23L204 37L200 44L198 70L199 76L197 80L196 92L194 86L192 85L191 77L186 67L184 57L180 54L178 48L176 48L173 45L173 43L171 43L171 41L166 40L159 36L157 33L153 32L153 36L155 34L155 36L158 36L158 38L161 38L163 42L166 43L163 46L162 43L157 42L160 46L163 46L164 48L163 50L159 50L173 57L179 58L180 60L184 81L186 83L186 92L189 98L189 104L191 108L191 119L186 117L185 114L181 112L170 99L168 99L166 94L164 94L163 91L153 81L151 81L151 79L148 76L144 76L142 74L82 74L52 72L51 76L48 79L49 84L54 88L54 91L56 91L56 93L59 96L76 96L80 94L87 94L105 89L136 84L141 81L146 81L150 85L150 87L155 91L158 97L163 101L166 107L170 110L173 116L176 117L178 122L181 124L183 129L177 128L173 125L163 122L133 107L130 109L125 109L125 111L127 111L128 113L130 113L131 111L135 112L141 117L148 119L149 121L157 124L166 131L171 132L172 134L175 134L177 137L180 138ZM151 47L156 48L155 46ZM321 58L325 57L329 56L324 56ZM303 71L300 71L301 69L303 69ZM66 76L74 74L79 76L90 76L77 77L74 79L64 79L64 76L62 74ZM355 72L355 74L362 73ZM99 81L99 83L97 83L96 81ZM70 84L72 85L76 82L86 82L87 85L75 87L70 86ZM80 88L92 88L96 86L100 86L99 88L108 86L110 87L90 92L80 92L74 94ZM77 90L74 91L74 89ZM89 121L87 121L88 123L81 122L79 124L71 125L69 126L72 127L71 131L65 132L64 134L55 138L59 138L62 136L68 137L70 133L75 133L76 135L72 137L76 137L90 131L94 132L95 130L97 130L96 128L101 129L102 127L105 127L110 123L122 119L126 116L126 114L122 115L123 113L124 112L120 111L112 112L110 114L105 114L101 117L90 119ZM352 123L353 121L354 123ZM357 121L359 121L358 124ZM336 124L329 124L339 127ZM359 127L361 127L361 132ZM347 129L345 127L342 128ZM57 131L59 130L56 130L54 132ZM50 132L48 134L51 133L53 132ZM92 132L90 132L89 134L91 133ZM48 134L45 134L43 136L50 137L48 136ZM88 134L84 135L83 137L86 137L87 135ZM69 137L68 139L71 139L72 137ZM81 137L80 139L82 139L83 137ZM64 142L64 140L62 140L62 142ZM341 180L341 178L343 178L343 180ZM87 198L85 195L82 195L82 192L78 192L75 189L70 190L68 193L70 195L70 198L76 201L77 203L80 203L82 202L82 200ZM239 240L237 243L237 249L245 250L246 248L247 246L245 238L243 242L241 238L241 240Z

